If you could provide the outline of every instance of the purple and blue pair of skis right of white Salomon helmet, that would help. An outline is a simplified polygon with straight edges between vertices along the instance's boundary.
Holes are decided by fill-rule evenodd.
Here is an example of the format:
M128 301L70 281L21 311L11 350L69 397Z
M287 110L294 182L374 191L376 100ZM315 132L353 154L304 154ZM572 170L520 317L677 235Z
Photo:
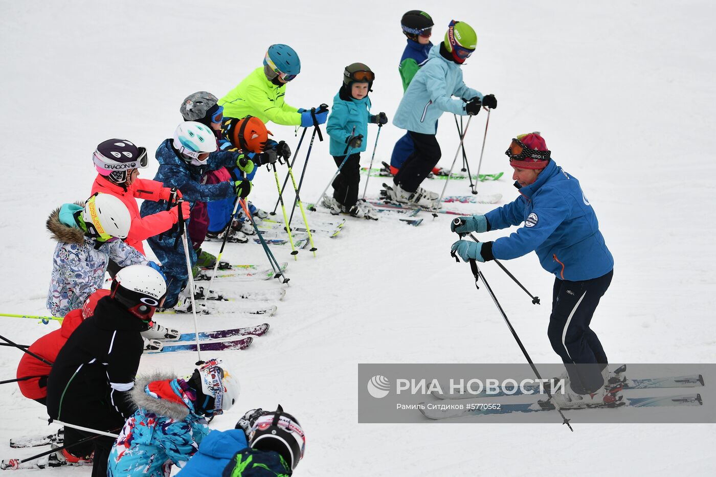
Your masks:
M269 331L269 324L263 323L253 327L217 329L210 332L199 332L199 344L202 351L246 350L253 342L253 337L259 337ZM243 338L237 338L243 337ZM214 339L229 339L228 341L212 341ZM168 353L175 351L196 351L196 334L182 333L179 338L165 344L161 351L147 353ZM182 343L185 342L185 343ZM177 344L173 344L177 343Z

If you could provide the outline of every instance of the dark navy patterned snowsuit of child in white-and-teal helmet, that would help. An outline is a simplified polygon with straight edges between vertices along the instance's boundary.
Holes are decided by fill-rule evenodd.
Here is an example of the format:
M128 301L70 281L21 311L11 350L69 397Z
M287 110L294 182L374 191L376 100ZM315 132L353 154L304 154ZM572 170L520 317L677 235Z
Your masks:
M206 165L196 166L186 163L172 148L172 140L165 140L157 148L156 158L159 161L159 169L154 180L164 183L166 187L177 187L183 194L183 198L193 205L196 201L211 202L227 197L235 197L233 183L230 181L218 184L203 184L201 177L210 170L218 170L236 165L237 153L218 152L209 155ZM167 208L166 201L142 203L140 213L142 217L164 211ZM177 301L179 292L186 286L189 275L186 269L184 247L181 239L175 249L174 244L176 233L166 233L163 236L147 238L149 246L162 262L162 270L167 276L167 297L164 307L173 307ZM194 249L190 247L189 256L192 266L196 261Z

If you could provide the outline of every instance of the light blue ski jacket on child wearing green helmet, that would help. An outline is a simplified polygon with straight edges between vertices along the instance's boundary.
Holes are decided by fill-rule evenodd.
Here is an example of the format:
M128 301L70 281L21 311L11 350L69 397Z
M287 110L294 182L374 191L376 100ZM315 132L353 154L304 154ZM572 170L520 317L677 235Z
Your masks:
M453 96L470 100L483 94L465 86L460 65L440 54L440 47L430 49L427 62L417 70L405 90L393 117L400 129L421 134L435 134L436 122L443 112L467 115L465 102Z

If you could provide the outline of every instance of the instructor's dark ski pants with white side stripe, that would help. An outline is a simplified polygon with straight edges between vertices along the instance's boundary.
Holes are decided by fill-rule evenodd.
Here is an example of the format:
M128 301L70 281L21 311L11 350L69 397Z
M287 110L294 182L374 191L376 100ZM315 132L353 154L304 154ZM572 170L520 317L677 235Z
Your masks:
M547 335L577 394L594 392L604 385L601 370L608 361L589 324L613 275L614 270L591 280L554 280Z

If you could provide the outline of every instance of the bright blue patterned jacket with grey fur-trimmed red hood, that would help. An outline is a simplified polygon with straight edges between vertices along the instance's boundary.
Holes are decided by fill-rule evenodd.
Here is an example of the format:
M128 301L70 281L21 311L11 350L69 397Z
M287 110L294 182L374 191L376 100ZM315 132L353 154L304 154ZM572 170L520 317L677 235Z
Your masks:
M140 377L132 400L138 409L112 446L107 476L165 477L172 464L183 467L209 432L193 390L167 375Z

